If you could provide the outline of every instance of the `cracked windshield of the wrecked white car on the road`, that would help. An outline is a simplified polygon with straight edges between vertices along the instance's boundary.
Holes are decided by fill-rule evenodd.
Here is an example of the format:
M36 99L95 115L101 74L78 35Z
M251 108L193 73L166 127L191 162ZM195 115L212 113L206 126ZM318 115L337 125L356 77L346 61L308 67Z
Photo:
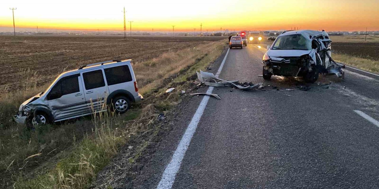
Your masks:
M273 44L272 50L310 50L310 41L301 34L279 36Z

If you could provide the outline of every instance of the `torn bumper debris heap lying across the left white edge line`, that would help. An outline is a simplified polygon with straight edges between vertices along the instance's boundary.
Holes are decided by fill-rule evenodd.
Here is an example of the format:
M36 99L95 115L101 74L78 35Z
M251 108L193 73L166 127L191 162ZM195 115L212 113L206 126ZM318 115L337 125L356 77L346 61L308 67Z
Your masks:
M200 82L204 83L208 86L213 87L236 87L241 90L252 90L254 88L258 88L259 85L262 85L262 83L259 84L253 84L252 82L244 82L240 83L238 81L226 81L220 78L217 78L213 73L201 71L200 73L196 71L197 79L199 79Z

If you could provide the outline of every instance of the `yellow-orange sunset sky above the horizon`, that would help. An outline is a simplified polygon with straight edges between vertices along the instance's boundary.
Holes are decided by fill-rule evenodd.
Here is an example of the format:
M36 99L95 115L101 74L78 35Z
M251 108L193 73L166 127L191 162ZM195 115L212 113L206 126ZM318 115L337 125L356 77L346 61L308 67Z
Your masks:
M124 6L138 31L379 30L379 0L2 0L0 27L122 31Z

